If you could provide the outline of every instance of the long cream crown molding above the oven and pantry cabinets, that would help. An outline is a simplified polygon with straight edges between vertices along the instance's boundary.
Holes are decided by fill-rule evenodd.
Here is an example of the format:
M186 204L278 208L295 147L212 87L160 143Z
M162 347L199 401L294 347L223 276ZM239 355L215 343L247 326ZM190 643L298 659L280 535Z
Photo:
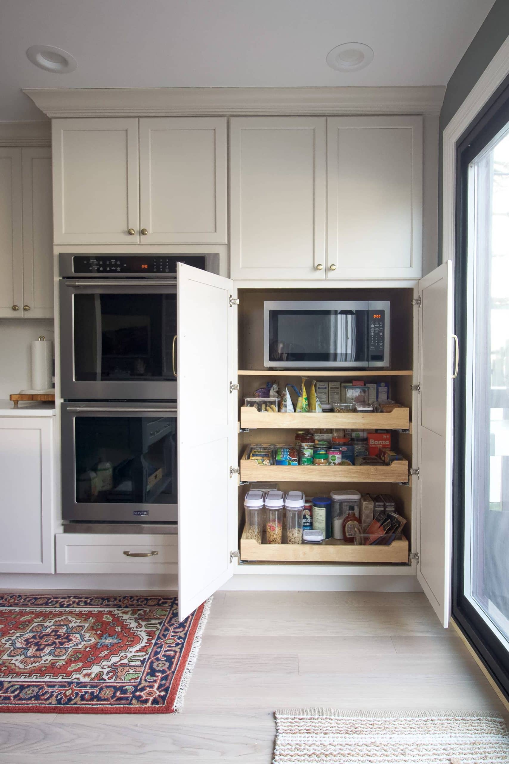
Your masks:
M439 114L445 87L82 88L23 91L48 117Z

